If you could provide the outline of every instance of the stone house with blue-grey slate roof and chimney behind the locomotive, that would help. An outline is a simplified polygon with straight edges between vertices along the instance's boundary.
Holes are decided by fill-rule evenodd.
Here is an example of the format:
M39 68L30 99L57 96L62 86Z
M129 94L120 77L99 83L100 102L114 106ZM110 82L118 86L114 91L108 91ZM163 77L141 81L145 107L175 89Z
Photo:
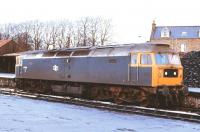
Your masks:
M152 23L150 42L167 43L177 52L200 50L200 26L156 26Z

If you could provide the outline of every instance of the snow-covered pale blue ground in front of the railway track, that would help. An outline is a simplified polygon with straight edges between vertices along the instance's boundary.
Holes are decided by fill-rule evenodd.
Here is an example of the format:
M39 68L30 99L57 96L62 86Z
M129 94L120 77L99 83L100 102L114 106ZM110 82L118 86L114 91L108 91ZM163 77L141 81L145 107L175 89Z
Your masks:
M0 95L0 132L199 132L200 125Z

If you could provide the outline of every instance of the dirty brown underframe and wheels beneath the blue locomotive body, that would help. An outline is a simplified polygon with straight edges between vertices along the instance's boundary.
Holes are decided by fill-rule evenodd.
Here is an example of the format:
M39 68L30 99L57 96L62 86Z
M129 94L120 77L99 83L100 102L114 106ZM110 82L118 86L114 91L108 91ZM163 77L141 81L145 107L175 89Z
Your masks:
M16 87L32 93L68 95L118 104L176 107L183 102L182 87L124 86L35 79L16 79Z

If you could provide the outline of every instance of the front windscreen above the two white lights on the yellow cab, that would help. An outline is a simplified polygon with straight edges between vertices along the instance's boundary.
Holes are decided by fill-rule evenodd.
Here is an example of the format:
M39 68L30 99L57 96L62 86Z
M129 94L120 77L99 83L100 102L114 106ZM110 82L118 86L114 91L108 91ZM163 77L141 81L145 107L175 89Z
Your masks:
M155 55L155 57L156 57L156 64L158 65L167 65L167 64L179 65L180 64L180 58L178 54L158 53Z

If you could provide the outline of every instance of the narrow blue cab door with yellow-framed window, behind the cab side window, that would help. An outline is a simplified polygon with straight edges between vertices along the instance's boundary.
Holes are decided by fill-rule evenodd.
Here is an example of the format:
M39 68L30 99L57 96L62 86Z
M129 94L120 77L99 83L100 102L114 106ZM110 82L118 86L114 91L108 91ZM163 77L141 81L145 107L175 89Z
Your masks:
M136 85L138 83L138 54L130 54L130 64L129 64L129 75L128 80L131 84Z

